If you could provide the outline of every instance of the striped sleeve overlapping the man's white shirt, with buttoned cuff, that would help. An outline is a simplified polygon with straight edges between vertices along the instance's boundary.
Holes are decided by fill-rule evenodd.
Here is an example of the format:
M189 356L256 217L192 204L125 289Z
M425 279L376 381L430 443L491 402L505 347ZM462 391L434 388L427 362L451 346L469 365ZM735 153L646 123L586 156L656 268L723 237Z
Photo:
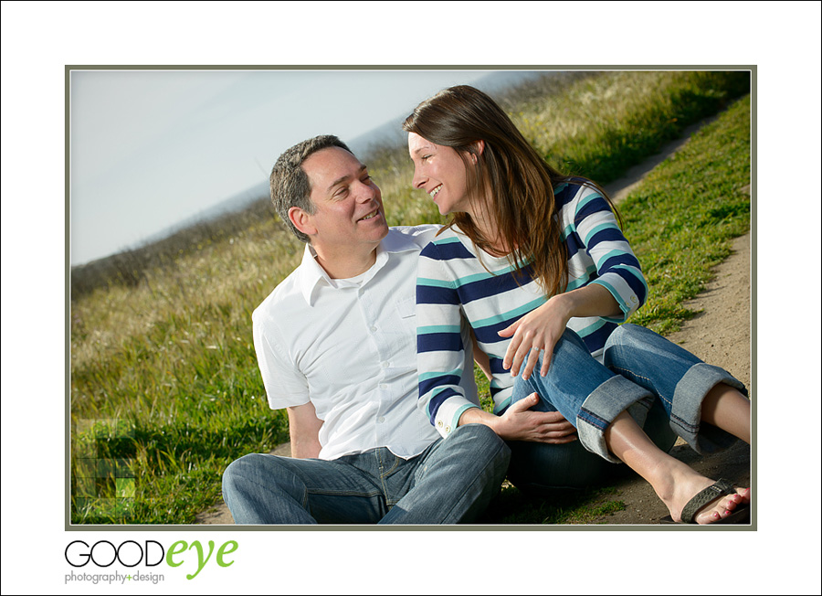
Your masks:
M459 384L469 334L457 284L442 264L455 250L465 250L458 239L429 244L420 253L416 279L418 406L443 437L457 429L462 412L479 407Z

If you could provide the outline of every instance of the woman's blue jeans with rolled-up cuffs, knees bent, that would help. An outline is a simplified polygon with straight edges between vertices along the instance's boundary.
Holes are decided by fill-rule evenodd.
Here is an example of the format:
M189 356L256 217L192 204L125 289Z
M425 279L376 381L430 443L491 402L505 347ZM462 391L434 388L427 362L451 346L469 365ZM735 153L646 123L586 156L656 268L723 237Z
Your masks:
M701 403L711 388L725 383L746 394L742 383L720 367L638 325L620 325L608 338L604 364L566 330L554 347L548 375L514 382L511 403L536 392L534 410L560 411L579 441L560 445L509 442L508 478L522 491L584 488L620 474L608 452L604 431L623 410L637 420L659 449L669 452L680 436L697 452L714 452L736 442L728 432L701 423Z

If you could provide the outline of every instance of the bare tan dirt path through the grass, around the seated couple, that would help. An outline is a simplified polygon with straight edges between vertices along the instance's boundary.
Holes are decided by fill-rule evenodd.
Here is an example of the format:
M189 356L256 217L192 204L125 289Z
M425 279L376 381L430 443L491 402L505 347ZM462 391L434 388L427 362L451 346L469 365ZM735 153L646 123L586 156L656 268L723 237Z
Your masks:
M683 133L682 139L666 146L645 163L631 168L625 177L606 186L618 202L636 186L654 167L687 143L701 122ZM733 243L733 254L715 269L715 278L707 289L686 303L690 309L701 311L669 339L706 362L727 369L746 387L751 387L751 239L750 234ZM290 443L275 451L290 455ZM751 480L750 449L739 444L719 454L701 457L689 447L678 444L672 453L695 470L712 478L728 478L737 484L748 485ZM668 514L650 485L639 477L617 484L617 493L608 500L622 501L626 508L596 520L605 524L657 524ZM233 524L227 506L220 504L197 516L198 524Z

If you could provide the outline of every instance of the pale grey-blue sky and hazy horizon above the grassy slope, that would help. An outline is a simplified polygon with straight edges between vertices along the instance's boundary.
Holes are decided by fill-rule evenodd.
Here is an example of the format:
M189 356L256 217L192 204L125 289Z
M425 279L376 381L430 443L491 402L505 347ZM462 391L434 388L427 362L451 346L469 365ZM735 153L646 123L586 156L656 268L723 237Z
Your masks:
M350 142L488 70L77 69L70 73L72 265L268 179L316 134Z

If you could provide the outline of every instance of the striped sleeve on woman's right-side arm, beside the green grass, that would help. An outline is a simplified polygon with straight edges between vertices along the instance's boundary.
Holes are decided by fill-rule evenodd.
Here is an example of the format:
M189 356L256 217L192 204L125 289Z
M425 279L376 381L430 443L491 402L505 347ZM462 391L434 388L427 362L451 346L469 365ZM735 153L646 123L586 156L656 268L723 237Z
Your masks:
M570 270L567 290L588 283L603 286L614 296L622 311L622 316L602 317L603 320L623 323L648 298L648 284L639 261L619 229L606 199L586 186L568 188L577 189L577 192L563 207ZM558 198L561 194L558 193ZM580 264L574 266L574 260ZM590 269L591 261L595 270L581 271ZM583 262L588 263L587 267Z

